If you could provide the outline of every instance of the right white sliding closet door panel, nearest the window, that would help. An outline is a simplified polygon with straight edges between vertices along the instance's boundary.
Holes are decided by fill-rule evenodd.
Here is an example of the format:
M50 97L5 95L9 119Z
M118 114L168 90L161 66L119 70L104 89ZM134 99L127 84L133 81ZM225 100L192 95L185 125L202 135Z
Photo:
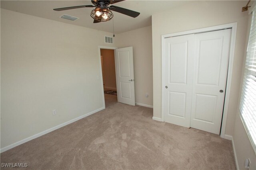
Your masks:
M191 127L220 134L231 29L195 34Z

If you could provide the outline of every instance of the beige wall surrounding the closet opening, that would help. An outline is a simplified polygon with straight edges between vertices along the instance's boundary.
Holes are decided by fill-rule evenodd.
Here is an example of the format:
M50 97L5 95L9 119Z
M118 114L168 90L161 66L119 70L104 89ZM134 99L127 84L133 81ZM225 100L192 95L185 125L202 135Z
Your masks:
M227 135L233 135L248 22L248 13L241 12L244 5L244 1L192 1L185 6L152 16L154 117L161 118L161 35L237 22L234 66L225 132Z

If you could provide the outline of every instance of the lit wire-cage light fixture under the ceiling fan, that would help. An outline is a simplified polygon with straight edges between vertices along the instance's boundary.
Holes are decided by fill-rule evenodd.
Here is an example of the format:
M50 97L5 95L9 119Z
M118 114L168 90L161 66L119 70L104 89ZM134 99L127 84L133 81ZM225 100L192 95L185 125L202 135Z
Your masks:
M113 13L108 9L96 8L91 11L90 16L97 21L109 21L113 18Z

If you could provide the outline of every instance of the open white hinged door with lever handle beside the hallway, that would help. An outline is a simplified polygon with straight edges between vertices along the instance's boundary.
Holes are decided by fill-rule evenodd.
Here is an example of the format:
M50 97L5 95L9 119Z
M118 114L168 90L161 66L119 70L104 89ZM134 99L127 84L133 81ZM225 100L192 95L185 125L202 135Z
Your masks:
M115 63L118 102L135 106L132 47L116 49Z

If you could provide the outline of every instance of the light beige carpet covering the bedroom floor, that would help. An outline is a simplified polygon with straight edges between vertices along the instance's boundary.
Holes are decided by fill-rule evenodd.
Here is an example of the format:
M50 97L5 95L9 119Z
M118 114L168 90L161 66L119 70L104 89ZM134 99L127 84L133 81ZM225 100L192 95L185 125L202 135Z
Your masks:
M105 110L3 152L1 163L33 170L236 168L231 141L154 121L151 108L105 96Z

